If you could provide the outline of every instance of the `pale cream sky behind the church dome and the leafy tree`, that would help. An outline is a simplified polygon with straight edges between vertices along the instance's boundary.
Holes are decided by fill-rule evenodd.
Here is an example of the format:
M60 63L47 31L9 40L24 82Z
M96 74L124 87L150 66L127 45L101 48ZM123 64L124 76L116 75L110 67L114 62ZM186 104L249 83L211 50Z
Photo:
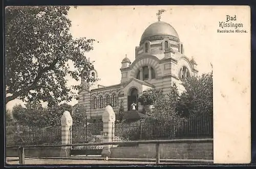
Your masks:
M139 46L144 30L157 21L156 13L164 9L161 21L167 22L177 31L180 41L184 45L184 54L193 57L198 66L199 75L211 70L211 55L205 50L207 46L207 23L202 10L188 6L185 8L175 6L78 6L71 7L68 18L72 26L70 33L74 38L93 38L99 43L94 44L94 50L87 53L100 78L99 84L103 86L120 83L121 61L127 54L132 62L135 60L135 47ZM197 22L195 22L195 17ZM206 36L205 36L206 35ZM77 85L80 81L68 78L68 86ZM22 103L13 100L7 104L11 109L15 104ZM71 105L76 100L68 102ZM23 103L22 103L23 104Z

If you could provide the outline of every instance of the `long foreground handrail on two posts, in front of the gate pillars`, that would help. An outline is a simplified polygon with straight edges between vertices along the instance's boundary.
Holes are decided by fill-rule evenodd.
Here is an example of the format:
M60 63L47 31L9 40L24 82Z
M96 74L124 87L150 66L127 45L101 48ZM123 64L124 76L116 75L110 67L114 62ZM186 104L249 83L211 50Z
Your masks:
M166 143L209 143L212 142L212 138L198 138L198 139L170 139L170 140L134 140L126 142L105 142L105 143L81 143L81 144L66 144L66 145L20 145L20 146L8 146L6 148L19 149L19 164L25 164L25 151L24 148L29 147L70 147L70 146L92 146L92 145L120 145L120 144L156 144L156 165L160 163L160 144Z

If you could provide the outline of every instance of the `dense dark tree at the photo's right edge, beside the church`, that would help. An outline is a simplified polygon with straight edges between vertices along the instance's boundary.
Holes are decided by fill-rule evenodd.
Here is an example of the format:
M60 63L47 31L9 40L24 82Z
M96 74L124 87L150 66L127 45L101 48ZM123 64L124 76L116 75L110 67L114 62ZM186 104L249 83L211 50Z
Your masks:
M212 72L190 77L183 82L185 91L181 94L178 111L184 116L213 114Z

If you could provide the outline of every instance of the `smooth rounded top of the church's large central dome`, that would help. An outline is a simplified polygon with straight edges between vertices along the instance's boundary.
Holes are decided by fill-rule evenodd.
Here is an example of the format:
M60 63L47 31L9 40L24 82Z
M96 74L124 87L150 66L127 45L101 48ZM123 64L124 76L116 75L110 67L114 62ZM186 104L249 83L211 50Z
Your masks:
M156 35L170 35L179 39L179 35L172 25L159 21L152 23L146 28L141 36L141 41Z

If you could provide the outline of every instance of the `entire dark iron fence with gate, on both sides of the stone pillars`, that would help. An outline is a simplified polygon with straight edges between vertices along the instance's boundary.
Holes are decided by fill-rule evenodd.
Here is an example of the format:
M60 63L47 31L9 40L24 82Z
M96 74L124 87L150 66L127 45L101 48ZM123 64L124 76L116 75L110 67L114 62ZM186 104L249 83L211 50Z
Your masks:
M113 142L127 140L178 139L178 138L212 138L213 117L204 115L190 118L180 123L137 122L130 125L116 123L112 126ZM88 123L87 121L72 126L71 143L101 143L103 142L103 123ZM61 144L61 126L23 131L6 135L6 144L11 145L44 145ZM95 147L101 149L102 147ZM84 149L84 147L73 147Z

